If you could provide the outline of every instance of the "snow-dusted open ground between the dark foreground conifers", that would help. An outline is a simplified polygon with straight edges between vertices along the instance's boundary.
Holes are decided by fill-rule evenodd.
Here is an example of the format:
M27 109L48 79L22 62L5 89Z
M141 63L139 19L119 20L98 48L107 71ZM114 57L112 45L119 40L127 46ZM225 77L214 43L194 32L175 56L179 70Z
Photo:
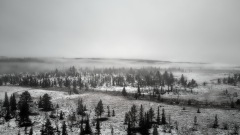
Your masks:
M181 127L191 128L194 122L194 116L197 116L198 119L198 131L194 132L195 134L227 134L229 131L222 129L212 129L210 125L214 121L215 114L218 115L220 127L222 127L222 122L227 122L231 126L234 123L238 123L240 125L240 113L238 110L220 110L220 109L200 109L201 113L197 113L197 109L193 107L186 107L186 110L182 110L182 106L175 105L166 105L162 103L155 103L149 101L141 101L141 100L128 100L121 96L111 96L104 93L99 92L85 92L80 95L68 95L65 92L60 91L49 91L49 90L39 90L39 89L29 89L29 88L21 88L21 87L0 87L0 93L4 95L2 90L5 89L9 93L18 92L19 94L22 91L28 90L32 97L39 98L45 93L48 93L52 97L52 102L59 104L59 111L62 110L66 114L72 112L72 110L76 110L76 102L79 98L83 99L84 104L87 105L88 113L90 114L90 119L95 117L94 108L97 105L98 101L101 99L104 104L105 114L107 115L107 106L110 106L110 109L114 109L116 116L110 117L108 121L101 123L101 132L103 135L109 135L111 132L111 127L114 128L114 134L116 135L125 135L126 134L126 125L123 125L124 115L127 111L130 110L133 104L139 106L142 104L145 107L145 111L150 107L154 108L156 113L157 107L161 106L161 108L165 109L167 120L170 116L171 123L178 121L179 129ZM3 96L1 96L3 99ZM156 115L155 115L156 116ZM41 128L42 123L45 121L45 113L40 113L38 116L32 116L31 119L35 122L34 124L34 132L35 134L40 134L39 130ZM52 120L53 126L54 120ZM173 124L174 125L174 124ZM59 122L59 127L61 127L61 121ZM162 126L158 128L161 134ZM12 135L17 134L19 128L16 127L16 123L11 120L9 123L5 123L4 125L0 125L0 134L1 135ZM20 129L22 134L24 132L24 128ZM92 130L95 131L95 127L92 126ZM73 132L68 131L69 135L76 135L79 132L79 128L73 128ZM151 132L151 131L150 131ZM176 133L176 130L174 130Z

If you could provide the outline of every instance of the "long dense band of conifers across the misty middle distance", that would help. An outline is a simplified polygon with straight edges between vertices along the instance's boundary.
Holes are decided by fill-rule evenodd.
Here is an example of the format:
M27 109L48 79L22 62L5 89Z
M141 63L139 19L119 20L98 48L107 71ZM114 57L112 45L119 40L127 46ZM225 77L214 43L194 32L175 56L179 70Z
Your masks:
M28 87L66 87L77 93L78 90L88 90L98 86L132 86L152 87L161 90L167 86L172 91L174 85L186 88L197 86L195 80L187 80L183 75L177 78L171 71L162 71L160 68L103 68L103 69L58 69L47 73L9 74L0 77L0 85L19 85Z

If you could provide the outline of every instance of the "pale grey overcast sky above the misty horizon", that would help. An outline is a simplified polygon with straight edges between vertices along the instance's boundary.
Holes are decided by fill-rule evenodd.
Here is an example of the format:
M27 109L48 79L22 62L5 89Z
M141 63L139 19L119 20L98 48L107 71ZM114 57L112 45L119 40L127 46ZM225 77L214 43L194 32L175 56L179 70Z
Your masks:
M239 0L1 0L0 56L240 65Z

